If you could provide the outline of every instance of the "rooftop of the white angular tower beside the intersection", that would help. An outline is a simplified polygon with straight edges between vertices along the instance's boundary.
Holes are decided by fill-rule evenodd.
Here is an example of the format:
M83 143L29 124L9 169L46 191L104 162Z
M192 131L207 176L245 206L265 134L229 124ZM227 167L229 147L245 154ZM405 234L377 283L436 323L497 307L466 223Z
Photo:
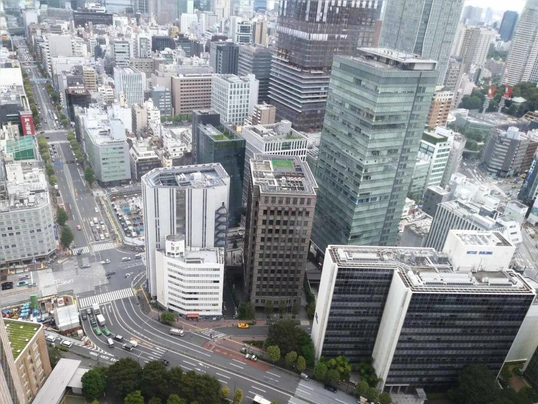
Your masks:
M210 188L225 185L230 178L220 163L158 168L148 172L142 181L151 187Z

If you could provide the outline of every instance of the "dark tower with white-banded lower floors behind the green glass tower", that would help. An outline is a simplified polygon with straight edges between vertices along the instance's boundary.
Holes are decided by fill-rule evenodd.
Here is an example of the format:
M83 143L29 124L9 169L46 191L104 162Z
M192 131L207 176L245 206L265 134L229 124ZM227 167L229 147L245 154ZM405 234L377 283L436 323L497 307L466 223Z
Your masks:
M381 3L372 1L280 2L269 86L277 121L297 130L321 128L333 55L371 46L380 13Z

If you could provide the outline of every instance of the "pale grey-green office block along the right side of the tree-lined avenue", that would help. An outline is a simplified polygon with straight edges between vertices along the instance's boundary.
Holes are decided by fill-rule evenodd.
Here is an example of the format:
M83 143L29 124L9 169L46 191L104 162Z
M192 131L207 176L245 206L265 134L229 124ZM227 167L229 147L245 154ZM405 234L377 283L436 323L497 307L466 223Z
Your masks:
M84 153L97 182L101 186L129 183L131 166L124 123L94 108L87 108L79 119Z

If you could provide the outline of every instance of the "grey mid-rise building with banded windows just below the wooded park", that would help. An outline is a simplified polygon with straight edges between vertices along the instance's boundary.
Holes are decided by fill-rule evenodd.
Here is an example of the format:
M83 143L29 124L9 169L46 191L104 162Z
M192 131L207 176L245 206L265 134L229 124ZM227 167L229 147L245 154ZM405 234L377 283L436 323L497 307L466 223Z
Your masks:
M521 163L530 141L516 127L508 130L494 128L487 138L480 163L487 172L498 177L519 175L527 168Z

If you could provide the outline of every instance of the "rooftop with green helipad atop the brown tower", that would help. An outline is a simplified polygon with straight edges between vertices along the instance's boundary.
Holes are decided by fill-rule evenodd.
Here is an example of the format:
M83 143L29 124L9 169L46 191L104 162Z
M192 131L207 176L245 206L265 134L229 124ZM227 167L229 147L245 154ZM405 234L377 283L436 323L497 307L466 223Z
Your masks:
M315 195L316 180L308 163L296 156L256 155L250 161L253 185L262 193Z

